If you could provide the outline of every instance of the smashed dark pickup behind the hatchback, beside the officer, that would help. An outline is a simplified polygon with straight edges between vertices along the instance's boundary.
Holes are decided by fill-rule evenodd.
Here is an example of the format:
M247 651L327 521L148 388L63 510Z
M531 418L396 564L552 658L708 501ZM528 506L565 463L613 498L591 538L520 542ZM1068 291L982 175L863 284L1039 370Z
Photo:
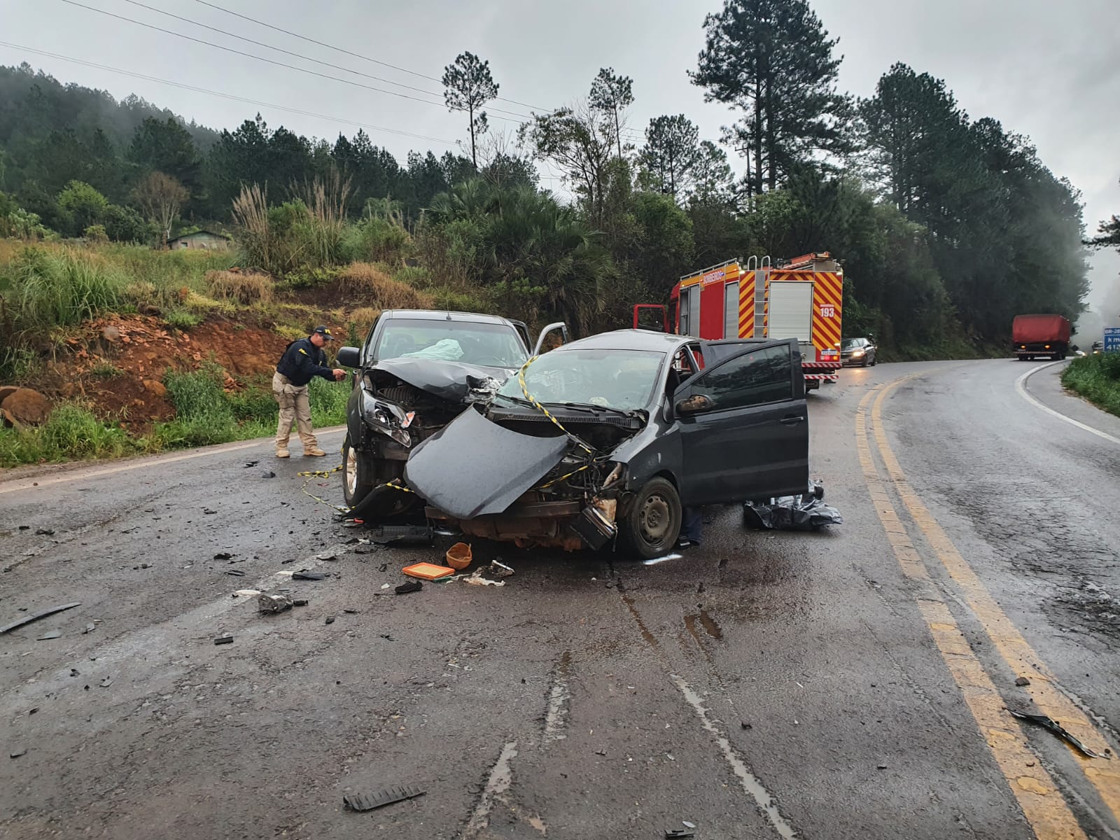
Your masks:
M553 330L545 327L534 353ZM343 488L352 514L385 520L421 504L402 487L404 463L420 442L465 407L488 404L529 358L524 324L492 315L427 309L383 311L362 347L338 364L358 368L346 404Z

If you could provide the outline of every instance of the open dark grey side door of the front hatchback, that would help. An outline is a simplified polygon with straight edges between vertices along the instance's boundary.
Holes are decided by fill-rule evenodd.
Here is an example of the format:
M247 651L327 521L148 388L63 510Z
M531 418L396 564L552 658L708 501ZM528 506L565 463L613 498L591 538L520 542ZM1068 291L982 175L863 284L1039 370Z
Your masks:
M687 505L804 493L809 413L796 339L720 342L673 395ZM738 352L734 352L738 349Z

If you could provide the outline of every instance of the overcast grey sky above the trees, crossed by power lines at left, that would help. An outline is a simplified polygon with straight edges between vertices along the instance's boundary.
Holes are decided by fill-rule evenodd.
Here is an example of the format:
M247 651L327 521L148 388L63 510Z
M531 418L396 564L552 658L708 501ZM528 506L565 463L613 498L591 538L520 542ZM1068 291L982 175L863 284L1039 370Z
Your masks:
M488 59L501 85L500 95L521 103L492 103L491 124L496 130L512 131L517 122L513 114L529 113L526 105L552 109L586 95L591 78L604 66L634 78L636 102L629 127L635 132L652 116L684 113L700 125L701 137L716 140L720 127L731 119L722 106L706 104L703 92L685 75L694 68L703 45L703 17L720 8L720 0L207 0L421 76L308 44L199 0L142 0L144 6L197 24L428 93L279 55L128 0L77 1L424 100L417 102L264 64L63 0L0 2L0 40L321 115L224 100L0 46L0 63L27 60L60 81L101 87L118 99L136 93L213 128L233 128L260 111L272 127L283 124L332 140L339 131L352 136L365 124L375 143L401 159L410 148L431 148L440 153L463 137L465 120L440 104L441 86L432 80L438 80L444 66L463 50ZM830 34L840 37L842 88L869 95L894 62L942 77L973 119L995 116L1006 129L1029 136L1046 165L1082 190L1090 232L1100 220L1120 214L1118 0L813 0L812 6ZM371 125L446 142L377 131ZM542 174L547 178L557 175ZM543 185L560 187L554 179L545 179ZM1110 252L1092 262L1090 302L1100 305L1108 291L1120 286L1120 256Z

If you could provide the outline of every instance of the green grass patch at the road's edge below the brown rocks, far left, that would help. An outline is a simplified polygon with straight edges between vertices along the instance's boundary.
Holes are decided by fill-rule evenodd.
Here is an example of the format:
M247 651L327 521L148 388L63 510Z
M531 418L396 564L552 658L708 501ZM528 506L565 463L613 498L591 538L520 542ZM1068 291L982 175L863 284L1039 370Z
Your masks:
M40 461L119 458L133 451L123 429L72 403L58 405L43 426L0 428L0 467Z

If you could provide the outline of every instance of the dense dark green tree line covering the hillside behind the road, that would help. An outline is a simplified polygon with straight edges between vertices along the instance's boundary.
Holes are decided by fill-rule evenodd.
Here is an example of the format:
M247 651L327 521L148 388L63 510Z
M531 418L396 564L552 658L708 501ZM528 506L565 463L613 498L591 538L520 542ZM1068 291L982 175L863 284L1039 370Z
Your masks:
M515 142L495 137L485 109L498 84L469 53L444 75L466 123L463 153L404 161L364 131L330 142L256 116L214 132L26 65L0 68L0 190L47 227L101 224L116 239L136 235L129 214L166 228L169 196L180 223L230 222L243 185L286 200L340 178L352 218L376 204L448 270L585 328L618 326L687 271L825 250L846 269L846 332L904 349L999 340L1024 311L1081 312L1080 195L1028 139L972 119L942 80L903 64L867 99L841 92L838 41L805 0L726 0L702 26L690 76L736 114L721 143L687 114L632 131L634 82L614 68L534 114ZM570 203L540 189L534 162L559 170Z

